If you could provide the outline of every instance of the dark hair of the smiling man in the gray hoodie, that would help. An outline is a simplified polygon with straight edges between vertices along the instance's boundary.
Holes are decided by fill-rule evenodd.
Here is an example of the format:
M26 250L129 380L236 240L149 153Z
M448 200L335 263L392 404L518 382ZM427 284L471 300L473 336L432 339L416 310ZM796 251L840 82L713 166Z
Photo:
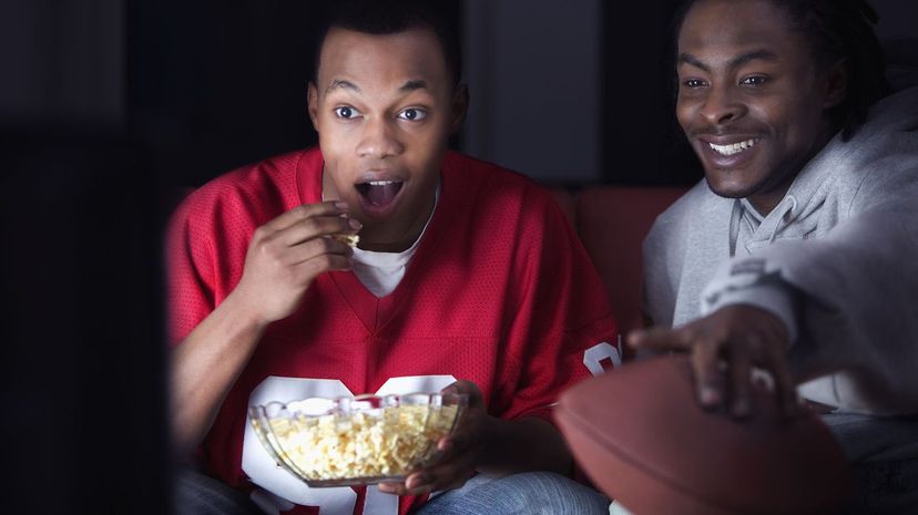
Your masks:
M688 9L697 0L683 2L674 18L672 58L675 62L679 33ZM829 111L844 140L850 138L867 119L867 111L889 93L886 60L874 30L879 16L866 0L769 0L787 16L790 27L810 42L814 59L832 64L845 59L848 90ZM728 23L728 21L724 21ZM675 81L673 81L675 83Z

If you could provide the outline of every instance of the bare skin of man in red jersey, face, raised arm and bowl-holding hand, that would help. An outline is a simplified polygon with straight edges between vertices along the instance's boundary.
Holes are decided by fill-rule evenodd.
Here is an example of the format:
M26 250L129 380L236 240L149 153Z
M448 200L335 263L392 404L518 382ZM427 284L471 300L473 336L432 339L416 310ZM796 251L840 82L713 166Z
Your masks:
M447 140L465 116L468 93L456 86L430 30L395 34L329 31L309 115L325 157L323 196L259 227L233 292L172 354L173 421L183 449L193 449L214 418L269 323L289 316L314 279L349 270L353 253L329 238L359 231L363 248L400 251L419 237L434 208ZM356 186L397 181L397 196L380 208ZM476 472L570 472L561 434L536 418L503 421L487 413L478 387L450 387L469 395L456 432L438 445L432 466L384 492L421 494L458 487ZM531 452L539 449L539 453Z

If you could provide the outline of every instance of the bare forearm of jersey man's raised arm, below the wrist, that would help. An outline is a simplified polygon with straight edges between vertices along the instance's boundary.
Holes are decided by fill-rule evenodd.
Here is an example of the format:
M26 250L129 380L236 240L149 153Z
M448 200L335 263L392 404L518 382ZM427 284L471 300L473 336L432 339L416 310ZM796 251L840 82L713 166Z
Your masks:
M172 351L172 423L180 450L197 445L213 424L264 332L233 295Z

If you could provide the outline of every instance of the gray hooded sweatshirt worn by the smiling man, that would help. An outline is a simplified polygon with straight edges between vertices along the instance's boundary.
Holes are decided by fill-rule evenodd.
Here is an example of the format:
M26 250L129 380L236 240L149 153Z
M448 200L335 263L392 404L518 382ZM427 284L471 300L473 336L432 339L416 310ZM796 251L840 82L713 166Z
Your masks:
M657 218L644 274L656 325L762 307L792 334L803 396L837 413L918 413L918 89L877 103L850 141L836 135L765 217L702 181ZM886 444L865 445L843 441L854 460Z

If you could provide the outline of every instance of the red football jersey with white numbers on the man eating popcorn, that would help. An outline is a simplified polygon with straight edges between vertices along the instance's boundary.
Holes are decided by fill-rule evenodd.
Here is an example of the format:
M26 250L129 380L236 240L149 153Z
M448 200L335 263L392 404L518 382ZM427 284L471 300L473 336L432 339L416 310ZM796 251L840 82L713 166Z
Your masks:
M239 281L258 226L320 202L322 169L317 148L283 155L218 177L180 206L167 253L173 342ZM202 444L208 472L236 487L254 483L253 498L278 512L296 504L286 513L359 515L373 504L367 512L405 514L424 499L375 487L308 488L278 468L248 428L247 406L436 391L467 379L494 416L550 420L558 394L611 357L603 353L616 329L609 300L550 194L457 153L447 153L441 178L395 291L377 298L351 272L324 274L290 317L267 329Z

